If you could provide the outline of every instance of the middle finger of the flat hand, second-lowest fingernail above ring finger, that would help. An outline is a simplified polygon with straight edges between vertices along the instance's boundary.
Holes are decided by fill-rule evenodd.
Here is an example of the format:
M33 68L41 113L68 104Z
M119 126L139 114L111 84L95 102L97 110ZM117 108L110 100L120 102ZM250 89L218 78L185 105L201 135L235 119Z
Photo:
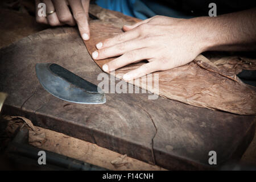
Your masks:
M144 42L139 39L130 40L124 43L115 44L114 46L100 49L92 53L93 59L105 59L108 57L119 56L123 53L132 51L134 49L140 49L144 47Z

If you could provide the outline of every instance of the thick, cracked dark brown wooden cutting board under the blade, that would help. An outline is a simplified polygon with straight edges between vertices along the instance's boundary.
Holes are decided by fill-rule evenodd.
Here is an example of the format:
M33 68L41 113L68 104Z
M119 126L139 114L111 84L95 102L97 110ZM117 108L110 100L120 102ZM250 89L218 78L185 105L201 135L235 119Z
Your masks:
M19 114L46 129L96 143L167 169L208 168L240 158L254 136L254 116L212 111L147 94L106 94L106 104L72 104L49 94L36 63L57 63L98 84L101 69L76 28L44 30L0 50L0 90L9 94L3 113Z

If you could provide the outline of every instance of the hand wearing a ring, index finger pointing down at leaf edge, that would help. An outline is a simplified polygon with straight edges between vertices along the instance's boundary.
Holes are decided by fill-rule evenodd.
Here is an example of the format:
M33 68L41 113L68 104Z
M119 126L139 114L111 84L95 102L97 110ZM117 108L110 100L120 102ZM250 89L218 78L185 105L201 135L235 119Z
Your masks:
M46 14L55 11L46 17L38 16L38 4L46 4ZM88 24L88 10L90 0L35 0L36 5L36 22L49 24L51 26L61 26L68 24L75 26L77 24L82 39L90 38L90 30ZM71 7L73 15L68 8Z

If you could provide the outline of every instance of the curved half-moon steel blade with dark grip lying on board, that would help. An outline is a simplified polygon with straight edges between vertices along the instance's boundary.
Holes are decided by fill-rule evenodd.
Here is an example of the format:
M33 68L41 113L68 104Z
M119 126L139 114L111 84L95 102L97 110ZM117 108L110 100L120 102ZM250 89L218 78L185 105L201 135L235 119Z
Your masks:
M57 64L36 64L40 84L53 96L79 104L104 104L106 97L98 86Z

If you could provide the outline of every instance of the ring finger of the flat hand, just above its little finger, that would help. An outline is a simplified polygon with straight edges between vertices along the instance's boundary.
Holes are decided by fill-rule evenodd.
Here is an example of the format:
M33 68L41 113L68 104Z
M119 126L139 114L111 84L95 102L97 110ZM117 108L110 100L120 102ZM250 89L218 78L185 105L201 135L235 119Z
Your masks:
M135 49L133 51L126 52L122 56L110 61L109 63L104 64L102 69L105 72L111 72L127 64L131 64L144 59L150 59L149 55L150 55L149 48Z

